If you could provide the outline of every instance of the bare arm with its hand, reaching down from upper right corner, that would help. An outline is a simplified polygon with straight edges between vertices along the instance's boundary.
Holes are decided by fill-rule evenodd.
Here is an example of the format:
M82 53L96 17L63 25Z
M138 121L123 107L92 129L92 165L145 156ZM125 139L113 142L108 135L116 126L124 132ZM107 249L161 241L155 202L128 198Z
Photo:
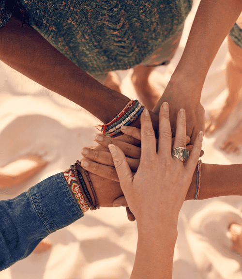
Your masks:
M242 11L242 0L201 0L181 60L160 101L167 101L171 110L172 133L176 115L186 110L187 135L193 144L197 133L204 130L204 109L200 104L201 90L212 61Z

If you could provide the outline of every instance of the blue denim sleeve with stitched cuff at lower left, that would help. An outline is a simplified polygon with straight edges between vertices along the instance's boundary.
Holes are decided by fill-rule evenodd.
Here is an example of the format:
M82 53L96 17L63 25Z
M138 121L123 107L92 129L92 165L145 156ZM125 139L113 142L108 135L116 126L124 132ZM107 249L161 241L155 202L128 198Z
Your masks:
M63 173L53 175L13 200L0 201L0 270L26 258L48 234L83 213Z

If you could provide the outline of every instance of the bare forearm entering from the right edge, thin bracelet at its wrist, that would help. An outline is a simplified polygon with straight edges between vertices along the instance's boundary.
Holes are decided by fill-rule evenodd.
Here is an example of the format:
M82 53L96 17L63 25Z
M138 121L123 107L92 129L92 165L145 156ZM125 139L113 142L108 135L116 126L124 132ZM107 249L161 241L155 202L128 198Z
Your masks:
M199 200L220 196L242 196L242 165L202 164ZM194 200L197 170L187 192L186 200Z

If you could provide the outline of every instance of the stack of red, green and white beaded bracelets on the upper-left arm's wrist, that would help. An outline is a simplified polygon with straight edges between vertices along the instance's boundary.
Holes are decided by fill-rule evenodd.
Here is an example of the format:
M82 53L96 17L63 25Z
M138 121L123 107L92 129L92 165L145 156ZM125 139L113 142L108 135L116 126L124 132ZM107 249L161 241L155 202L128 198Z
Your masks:
M123 125L128 125L136 120L138 115L142 112L142 108L138 100L131 100L124 109L109 123L105 125L98 125L102 127L101 131L103 135L111 137L111 135L116 135L121 132L120 127ZM140 113L138 114L138 112ZM132 121L131 121L132 120Z

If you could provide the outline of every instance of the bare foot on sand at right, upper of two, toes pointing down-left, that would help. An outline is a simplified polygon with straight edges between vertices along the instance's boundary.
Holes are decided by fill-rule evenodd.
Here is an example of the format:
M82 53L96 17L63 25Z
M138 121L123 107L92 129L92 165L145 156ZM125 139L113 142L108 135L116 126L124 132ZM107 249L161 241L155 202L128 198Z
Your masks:
M205 134L211 136L218 129L222 128L230 113L239 104L240 98L231 100L228 96L225 105L221 109L210 111L209 118L205 120Z

